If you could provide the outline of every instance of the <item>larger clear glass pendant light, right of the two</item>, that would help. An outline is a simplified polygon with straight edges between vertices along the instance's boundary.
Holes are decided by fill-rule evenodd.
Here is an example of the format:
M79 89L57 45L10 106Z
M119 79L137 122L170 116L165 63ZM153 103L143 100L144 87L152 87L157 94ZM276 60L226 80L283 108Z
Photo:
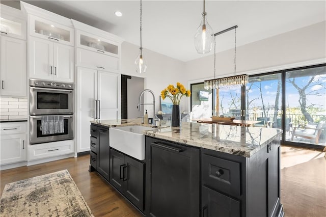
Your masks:
M204 0L204 12L202 13L202 19L200 25L195 34L195 47L198 53L209 53L213 45L213 29L207 22L207 13L205 12L205 0Z

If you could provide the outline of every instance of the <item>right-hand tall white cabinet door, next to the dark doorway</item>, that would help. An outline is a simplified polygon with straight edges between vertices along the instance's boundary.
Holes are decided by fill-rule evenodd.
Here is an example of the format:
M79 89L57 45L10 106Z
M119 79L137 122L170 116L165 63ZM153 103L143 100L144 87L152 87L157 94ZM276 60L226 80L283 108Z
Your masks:
M121 119L121 74L98 71L97 99L101 120Z

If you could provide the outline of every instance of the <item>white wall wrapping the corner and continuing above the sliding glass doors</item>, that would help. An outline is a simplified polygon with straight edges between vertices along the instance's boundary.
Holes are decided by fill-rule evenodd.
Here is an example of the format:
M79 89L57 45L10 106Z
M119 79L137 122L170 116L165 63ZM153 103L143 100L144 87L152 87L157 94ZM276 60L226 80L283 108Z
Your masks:
M300 67L323 59L326 62L326 22L319 22L305 28L266 38L237 47L236 73L256 71L266 72L290 67ZM240 31L240 29L238 30ZM216 38L218 45L218 37ZM144 49L148 68L143 75L135 72L134 60L139 47L127 42L122 43L122 74L145 77L145 88L155 93L156 111L159 110L160 91L169 84L181 82L185 86L192 80L203 81L214 75L213 55L189 62L181 62L159 53ZM234 50L216 53L216 77L232 75ZM189 87L188 87L189 88ZM181 111L188 110L189 98L181 101ZM152 97L147 95L146 102L151 103ZM149 117L152 107L147 106Z

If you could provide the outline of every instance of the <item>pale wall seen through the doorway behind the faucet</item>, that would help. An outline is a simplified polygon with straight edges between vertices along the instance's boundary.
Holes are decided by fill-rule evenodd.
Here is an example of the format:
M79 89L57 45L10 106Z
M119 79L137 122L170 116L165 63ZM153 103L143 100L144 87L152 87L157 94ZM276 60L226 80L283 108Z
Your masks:
M138 112L137 104L139 93L144 90L144 78L131 76L127 79L127 103L128 103L128 118L137 118L144 116L143 111ZM143 102L142 102L143 103Z

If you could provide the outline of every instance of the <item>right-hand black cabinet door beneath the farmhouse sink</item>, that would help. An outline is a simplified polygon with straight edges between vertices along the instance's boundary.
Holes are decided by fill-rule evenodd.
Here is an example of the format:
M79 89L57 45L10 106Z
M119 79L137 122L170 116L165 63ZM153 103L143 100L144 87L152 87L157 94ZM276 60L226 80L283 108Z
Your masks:
M144 210L144 164L128 156L124 158L124 195L139 209Z

